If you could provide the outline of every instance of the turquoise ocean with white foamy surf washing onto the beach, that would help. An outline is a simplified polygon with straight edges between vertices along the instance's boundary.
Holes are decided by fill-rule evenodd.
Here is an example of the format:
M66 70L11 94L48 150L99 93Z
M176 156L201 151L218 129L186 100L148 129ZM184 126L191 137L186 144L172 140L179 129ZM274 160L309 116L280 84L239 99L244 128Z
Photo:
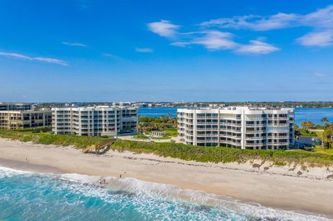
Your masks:
M0 220L329 220L138 179L0 167ZM273 199L272 199L273 200Z

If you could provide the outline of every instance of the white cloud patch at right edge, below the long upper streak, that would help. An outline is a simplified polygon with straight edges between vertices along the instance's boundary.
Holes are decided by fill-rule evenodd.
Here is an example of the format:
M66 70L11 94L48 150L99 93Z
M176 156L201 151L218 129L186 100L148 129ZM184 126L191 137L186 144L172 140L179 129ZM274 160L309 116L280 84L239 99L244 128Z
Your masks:
M321 32L308 33L298 39L296 42L304 46L331 46L333 44L333 31L325 30Z

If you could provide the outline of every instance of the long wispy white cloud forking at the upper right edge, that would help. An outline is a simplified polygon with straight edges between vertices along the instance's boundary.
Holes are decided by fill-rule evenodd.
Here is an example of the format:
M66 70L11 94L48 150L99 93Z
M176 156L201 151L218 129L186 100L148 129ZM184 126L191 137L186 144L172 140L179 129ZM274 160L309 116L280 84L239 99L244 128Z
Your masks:
M249 29L255 31L307 26L314 28L296 42L305 46L331 46L333 43L333 5L305 15L279 12L275 15L244 15L241 17L212 19L200 24L204 27Z

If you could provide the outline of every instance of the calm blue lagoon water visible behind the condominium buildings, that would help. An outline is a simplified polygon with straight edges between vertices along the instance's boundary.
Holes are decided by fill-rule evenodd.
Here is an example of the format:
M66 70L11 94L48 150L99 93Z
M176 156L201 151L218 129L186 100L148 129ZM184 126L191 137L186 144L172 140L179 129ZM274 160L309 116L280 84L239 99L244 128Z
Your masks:
M170 113L176 116L177 107L141 107L139 116L161 116ZM296 108L295 122L300 125L302 121L311 121L315 124L322 124L321 118L327 117L333 122L333 108Z

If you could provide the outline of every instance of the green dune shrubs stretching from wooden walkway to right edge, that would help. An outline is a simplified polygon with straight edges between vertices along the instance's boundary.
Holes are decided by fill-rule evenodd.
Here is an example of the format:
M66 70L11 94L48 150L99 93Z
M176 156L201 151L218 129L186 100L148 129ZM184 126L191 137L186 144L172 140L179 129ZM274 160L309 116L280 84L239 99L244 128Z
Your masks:
M333 164L333 156L314 152L285 151L285 150L241 150L224 147L201 147L185 145L182 143L154 143L139 141L117 140L111 145L113 150L128 150L135 153L156 154L161 157L173 157L184 160L214 163L244 163L249 160L269 160L275 165L290 163L311 163L315 166L328 166Z

